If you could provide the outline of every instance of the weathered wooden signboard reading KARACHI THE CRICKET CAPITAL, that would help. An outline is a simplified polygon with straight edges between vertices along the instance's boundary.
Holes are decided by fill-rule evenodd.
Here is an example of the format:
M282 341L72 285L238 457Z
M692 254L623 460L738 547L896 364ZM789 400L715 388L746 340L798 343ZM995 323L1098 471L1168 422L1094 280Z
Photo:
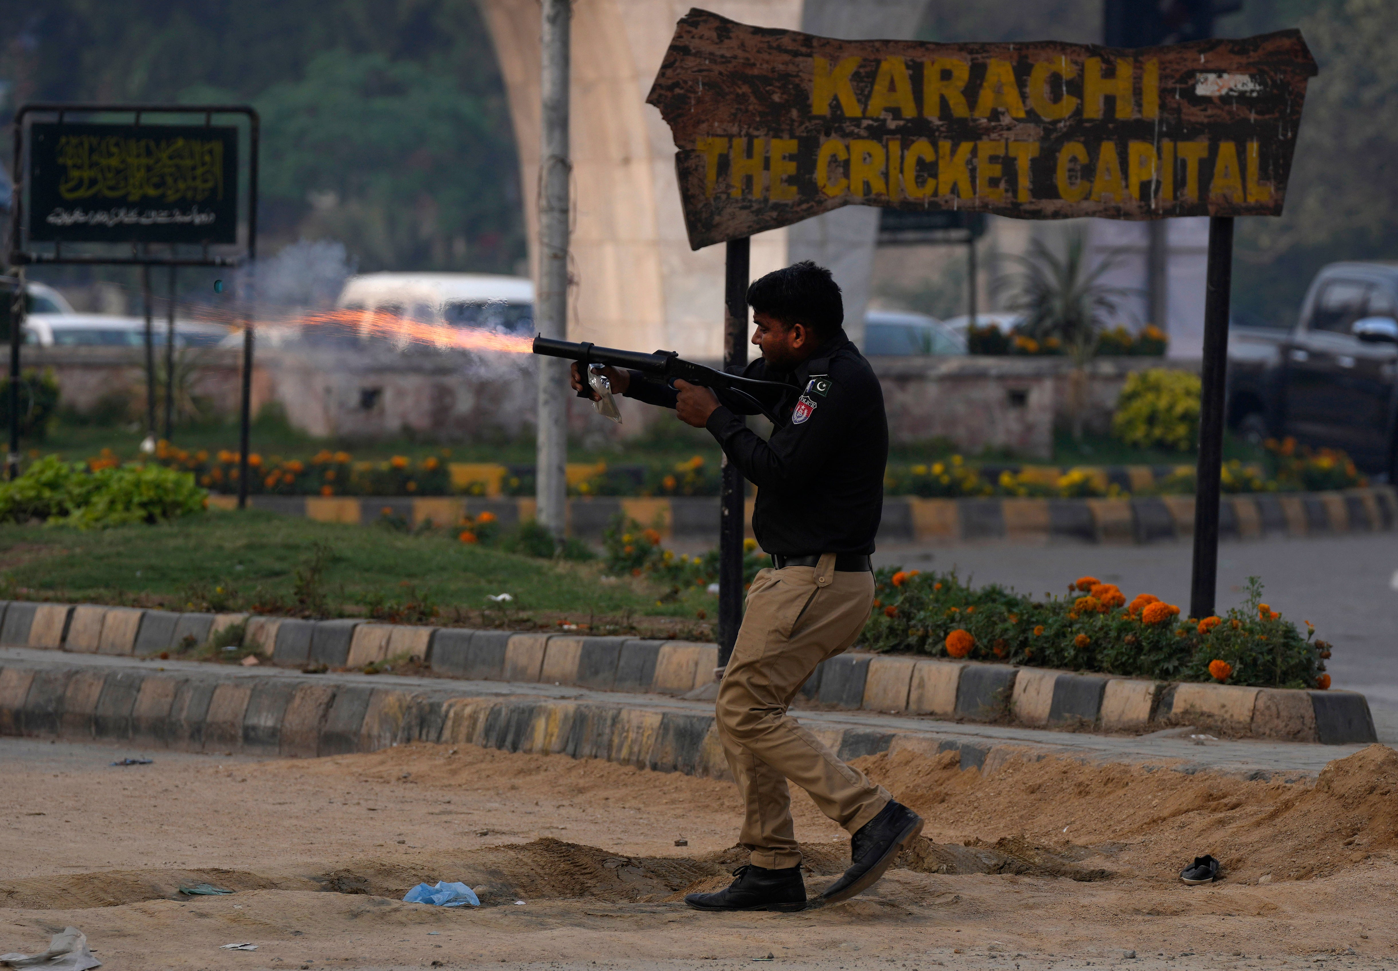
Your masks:
M691 10L647 102L699 249L842 205L1281 215L1314 74L1299 31L1117 50L837 41Z

